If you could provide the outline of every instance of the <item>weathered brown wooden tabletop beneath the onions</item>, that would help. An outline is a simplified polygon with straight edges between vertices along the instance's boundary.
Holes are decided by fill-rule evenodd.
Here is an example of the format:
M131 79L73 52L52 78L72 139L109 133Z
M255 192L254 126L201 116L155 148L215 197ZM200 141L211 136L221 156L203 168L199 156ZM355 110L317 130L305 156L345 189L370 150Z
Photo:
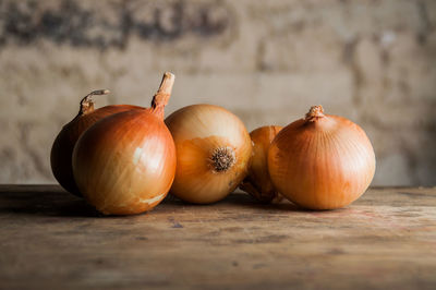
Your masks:
M0 185L1 289L436 289L436 189L344 209L208 206L99 217L55 185Z

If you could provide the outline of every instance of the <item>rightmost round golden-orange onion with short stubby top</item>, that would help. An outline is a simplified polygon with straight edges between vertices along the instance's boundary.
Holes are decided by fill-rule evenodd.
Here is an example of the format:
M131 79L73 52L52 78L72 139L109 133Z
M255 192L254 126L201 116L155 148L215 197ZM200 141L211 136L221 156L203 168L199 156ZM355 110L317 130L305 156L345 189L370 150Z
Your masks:
M268 153L275 188L310 209L349 205L368 188L375 171L373 146L365 132L314 106L277 134Z

